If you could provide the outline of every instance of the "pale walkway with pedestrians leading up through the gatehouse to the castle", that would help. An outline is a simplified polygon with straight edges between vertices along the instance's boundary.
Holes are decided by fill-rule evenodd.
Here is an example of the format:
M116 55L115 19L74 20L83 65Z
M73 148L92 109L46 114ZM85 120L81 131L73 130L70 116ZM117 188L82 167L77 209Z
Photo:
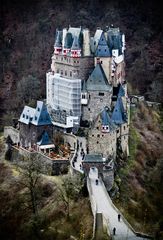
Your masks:
M83 148L86 153L86 139L82 137L78 137L79 141L79 149L78 149L78 157L75 162L75 169L79 172L83 173L81 169L81 149ZM109 194L106 191L106 188L99 179L98 185L96 185L96 179L98 177L98 173L95 170L90 170L89 179L92 188L92 194L96 203L97 213L102 213L105 219L108 220L108 228L111 233L111 236L115 240L139 240L143 239L142 237L137 237L135 233L129 228L128 224L123 220L123 218L118 221L118 210L114 207ZM113 228L116 228L116 233L113 236Z

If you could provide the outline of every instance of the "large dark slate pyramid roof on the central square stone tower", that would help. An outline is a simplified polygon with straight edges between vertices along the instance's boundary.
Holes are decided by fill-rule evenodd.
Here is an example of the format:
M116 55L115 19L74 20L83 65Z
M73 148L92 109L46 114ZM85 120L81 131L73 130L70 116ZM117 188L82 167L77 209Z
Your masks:
M96 65L86 82L88 91L112 91L112 86L108 83L104 70L100 63Z

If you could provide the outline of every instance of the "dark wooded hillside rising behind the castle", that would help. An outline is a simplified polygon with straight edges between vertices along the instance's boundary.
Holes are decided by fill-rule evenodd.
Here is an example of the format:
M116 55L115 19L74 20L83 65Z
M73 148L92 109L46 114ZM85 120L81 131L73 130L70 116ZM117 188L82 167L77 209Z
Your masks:
M0 113L13 116L33 103L30 87L18 84L35 78L36 98L45 98L45 73L50 68L56 27L105 27L114 24L126 34L126 79L140 94L163 102L163 49L160 6L155 1L1 1ZM30 85L33 84L31 80ZM31 103L32 102L32 103ZM19 106L19 109L18 109Z

